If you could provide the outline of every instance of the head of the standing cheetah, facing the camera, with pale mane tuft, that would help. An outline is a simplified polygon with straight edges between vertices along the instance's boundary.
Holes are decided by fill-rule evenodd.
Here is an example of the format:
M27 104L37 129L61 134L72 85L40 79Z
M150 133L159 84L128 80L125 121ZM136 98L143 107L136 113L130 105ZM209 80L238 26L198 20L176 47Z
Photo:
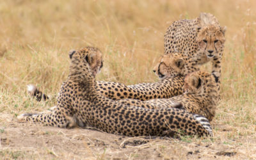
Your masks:
M214 58L221 56L224 47L226 26L221 27L218 20L210 13L200 13L200 24L196 26L198 43L198 56Z

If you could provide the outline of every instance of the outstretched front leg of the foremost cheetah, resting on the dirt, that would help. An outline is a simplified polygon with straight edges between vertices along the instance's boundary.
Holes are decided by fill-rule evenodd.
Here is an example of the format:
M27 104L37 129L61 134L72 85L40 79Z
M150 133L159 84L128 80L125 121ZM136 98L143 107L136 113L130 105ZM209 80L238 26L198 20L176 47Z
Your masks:
M76 126L76 116L71 116L70 111L55 108L53 111L42 113L25 113L17 117L18 122L39 122L44 125L71 128Z

